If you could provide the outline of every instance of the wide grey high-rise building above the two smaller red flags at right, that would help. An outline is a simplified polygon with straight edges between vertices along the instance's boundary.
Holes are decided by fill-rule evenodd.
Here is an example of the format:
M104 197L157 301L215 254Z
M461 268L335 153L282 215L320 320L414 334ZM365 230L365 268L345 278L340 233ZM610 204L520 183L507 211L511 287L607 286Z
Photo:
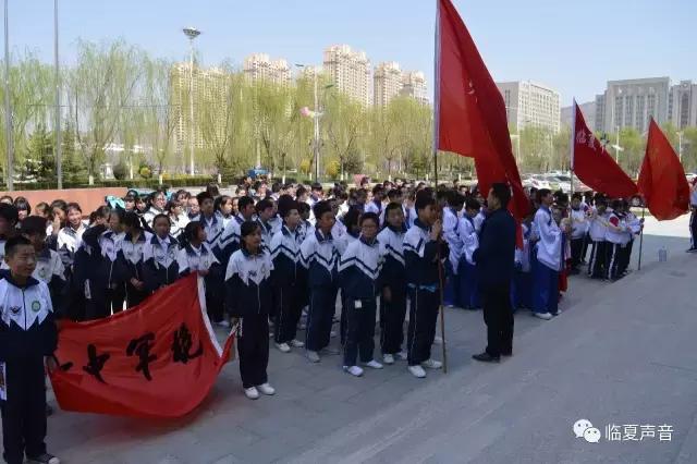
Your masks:
M596 97L596 102L603 100L596 107L596 127L607 133L625 127L645 133L651 118L659 124L667 122L670 89L670 77L608 81L604 94Z

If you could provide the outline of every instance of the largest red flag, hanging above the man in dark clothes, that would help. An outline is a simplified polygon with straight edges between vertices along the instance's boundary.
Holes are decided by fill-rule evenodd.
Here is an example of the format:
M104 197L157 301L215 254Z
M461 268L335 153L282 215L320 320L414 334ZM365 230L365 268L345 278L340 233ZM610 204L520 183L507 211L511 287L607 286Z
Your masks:
M521 219L529 202L511 148L505 103L450 0L438 0L436 34L436 148L473 157L485 196L492 183L509 183L510 209Z

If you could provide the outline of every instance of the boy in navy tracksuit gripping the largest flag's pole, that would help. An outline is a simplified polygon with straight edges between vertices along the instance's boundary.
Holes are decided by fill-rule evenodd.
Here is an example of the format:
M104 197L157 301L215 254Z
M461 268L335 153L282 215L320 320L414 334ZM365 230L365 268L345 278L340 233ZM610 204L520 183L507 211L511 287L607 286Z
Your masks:
M440 369L442 363L431 359L436 338L436 321L440 303L440 259L449 255L448 244L441 240L442 221L438 218L436 200L426 192L416 198L418 218L404 235L409 325L407 328L408 370L417 378L426 377L421 366ZM440 252L440 253L439 253Z

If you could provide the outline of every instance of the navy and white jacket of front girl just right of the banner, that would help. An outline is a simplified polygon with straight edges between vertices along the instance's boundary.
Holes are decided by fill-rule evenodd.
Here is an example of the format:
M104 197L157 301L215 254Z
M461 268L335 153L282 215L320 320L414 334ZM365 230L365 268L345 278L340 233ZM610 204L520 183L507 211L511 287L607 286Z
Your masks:
M252 255L240 248L232 254L225 270L225 309L230 316L268 317L273 307L272 270L267 251Z

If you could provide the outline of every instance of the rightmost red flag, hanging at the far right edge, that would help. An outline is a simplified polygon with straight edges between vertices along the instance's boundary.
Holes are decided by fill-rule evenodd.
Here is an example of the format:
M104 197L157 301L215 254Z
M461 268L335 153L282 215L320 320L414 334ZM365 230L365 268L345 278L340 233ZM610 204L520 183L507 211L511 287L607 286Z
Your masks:
M637 186L649 211L659 221L675 219L689 210L685 170L652 118Z

